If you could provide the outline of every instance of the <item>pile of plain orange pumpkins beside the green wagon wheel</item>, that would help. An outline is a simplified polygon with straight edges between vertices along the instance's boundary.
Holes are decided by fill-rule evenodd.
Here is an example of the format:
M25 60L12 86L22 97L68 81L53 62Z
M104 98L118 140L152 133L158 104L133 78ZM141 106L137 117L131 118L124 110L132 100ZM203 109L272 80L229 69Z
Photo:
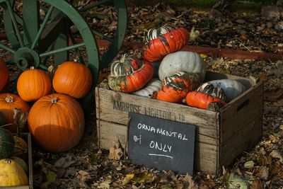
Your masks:
M8 68L0 59L0 91L2 91L0 93L0 113L9 124L2 130L17 132L18 128L13 116L14 110L18 109L23 114L28 113L28 128L25 128L25 131L29 130L39 147L50 152L71 149L79 143L85 126L83 109L76 98L85 96L91 90L92 78L88 67L76 62L60 64L53 78L41 69L30 67L18 78L18 95L7 93L4 92L4 88L8 82ZM52 88L54 88L54 93L52 93ZM10 155L8 151L2 150L4 149L2 144L5 143L5 141L1 143L3 139L1 136L4 134L2 130L0 131L0 157L6 158ZM2 164L0 164L1 180L2 168L5 168L3 164L7 162L5 159L0 162Z

